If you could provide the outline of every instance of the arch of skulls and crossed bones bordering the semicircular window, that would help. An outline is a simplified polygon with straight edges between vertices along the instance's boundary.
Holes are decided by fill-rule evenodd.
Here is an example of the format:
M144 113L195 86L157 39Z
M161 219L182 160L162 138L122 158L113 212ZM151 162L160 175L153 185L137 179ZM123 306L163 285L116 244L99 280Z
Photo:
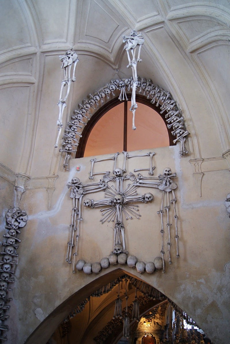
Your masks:
M60 152L65 153L63 162L64 170L69 170L70 157L73 153L76 154L84 126L94 116L95 112L109 100L117 97L121 101L124 100L124 97L127 97L127 94L131 93L132 85L132 76L126 79L111 80L110 83L101 87L96 92L90 93L82 103L78 104L78 108L74 110L71 120L67 123L63 135L63 148L59 149ZM185 127L182 110L178 108L171 94L154 85L150 79L146 80L145 78L138 78L136 89L140 95L146 97L149 103L160 107L160 113L164 114L167 128L175 136L173 142L180 143L180 156L188 154L185 141L189 132Z

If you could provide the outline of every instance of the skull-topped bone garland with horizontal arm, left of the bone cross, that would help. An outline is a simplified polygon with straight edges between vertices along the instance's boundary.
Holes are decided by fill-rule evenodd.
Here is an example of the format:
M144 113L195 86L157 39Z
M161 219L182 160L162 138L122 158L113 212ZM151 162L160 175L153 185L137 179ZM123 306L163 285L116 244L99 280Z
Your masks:
M106 189L107 185L103 182L83 185L77 177L72 178L71 182L67 183L67 187L71 187L70 198L73 199L73 208L70 223L70 240L68 241L66 261L70 264L73 259L73 273L75 272L76 256L78 255L78 241L80 237L80 221L83 220L81 216L81 203L83 195L89 192L97 192ZM90 201L90 200L88 200ZM88 202L88 205L92 203ZM86 205L84 203L84 205ZM76 238L76 240L75 240ZM75 246L75 252L73 248Z

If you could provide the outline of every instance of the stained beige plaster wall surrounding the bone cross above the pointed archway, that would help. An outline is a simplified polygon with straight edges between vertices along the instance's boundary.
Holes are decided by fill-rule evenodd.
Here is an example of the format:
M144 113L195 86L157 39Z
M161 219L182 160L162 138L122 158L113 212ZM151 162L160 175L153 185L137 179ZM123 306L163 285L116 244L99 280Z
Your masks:
M196 178L189 157L179 158L179 148L176 146L157 148L154 151L154 175L157 176L169 166L178 176L176 196L180 257L175 257L172 232L173 264L168 264L168 252L165 249L165 273L157 271L153 275L140 275L127 266L121 268L150 283L172 299L197 322L213 343L227 344L230 262L229 217L223 204L229 185L226 161L223 160L226 168L205 173L202 180L202 197L198 197ZM144 152L147 151L136 151L137 154ZM123 163L122 155L121 153L118 157L118 166ZM105 157L108 156L110 155ZM82 301L77 292L92 281L95 281L94 287L99 283L95 274L85 275L83 271L73 274L72 266L65 261L72 212L72 199L66 184L73 176L80 178L83 184L90 182L90 159L73 159L69 173L60 170L50 210L47 210L45 187L27 189L22 196L20 207L26 209L29 219L21 234L19 265L12 288L13 301L9 314L14 331L9 333L10 343L23 343L41 324L40 331L35 332L28 343L46 343L59 322L77 302ZM95 171L112 170L112 163L113 161L98 162ZM148 165L149 159L146 157L129 159L127 172ZM80 172L76 172L76 166L80 166ZM149 188L138 189L139 194L145 192L150 192ZM128 251L145 262L159 256L161 250L161 227L157 214L161 192L153 189L152 193L154 202L140 204L141 218L125 221ZM95 200L104 197L103 192L89 196L90 194L87 198ZM85 259L87 262L100 261L112 251L113 225L102 225L100 218L98 208L84 207L80 226L79 259ZM117 267L109 267L108 270L103 270L100 276L116 269ZM88 296L90 288L84 288L85 297ZM75 295L74 301L71 301L72 295ZM58 314L53 315L52 319L48 318L46 324L46 317L67 299L67 305L59 308Z

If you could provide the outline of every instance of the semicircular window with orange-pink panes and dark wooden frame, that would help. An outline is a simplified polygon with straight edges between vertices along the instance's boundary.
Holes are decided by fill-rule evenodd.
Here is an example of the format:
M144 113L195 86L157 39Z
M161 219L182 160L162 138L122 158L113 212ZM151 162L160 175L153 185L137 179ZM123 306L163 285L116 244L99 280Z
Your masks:
M174 145L171 131L159 109L137 95L136 130L132 130L129 100L115 98L102 106L82 132L76 158Z

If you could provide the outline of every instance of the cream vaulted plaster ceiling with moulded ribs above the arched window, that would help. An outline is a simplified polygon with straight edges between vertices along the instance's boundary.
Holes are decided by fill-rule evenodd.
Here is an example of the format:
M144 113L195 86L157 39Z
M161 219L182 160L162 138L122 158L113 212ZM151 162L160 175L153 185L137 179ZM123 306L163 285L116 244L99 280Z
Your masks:
M172 93L191 133L194 158L218 157L228 149L228 1L3 0L0 12L0 159L13 172L57 174L56 104L63 78L58 56L73 48L80 60L68 121L89 93L131 75L122 43L131 29L145 39L138 75Z

